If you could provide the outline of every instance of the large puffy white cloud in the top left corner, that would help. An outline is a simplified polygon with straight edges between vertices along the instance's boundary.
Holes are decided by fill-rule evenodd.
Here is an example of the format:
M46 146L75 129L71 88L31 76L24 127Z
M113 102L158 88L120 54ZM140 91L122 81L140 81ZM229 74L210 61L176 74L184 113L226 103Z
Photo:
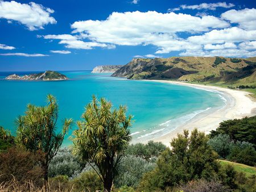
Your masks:
M50 16L54 11L34 2L18 3L15 1L0 1L0 18L16 20L28 27L28 30L43 29L46 24L55 24Z

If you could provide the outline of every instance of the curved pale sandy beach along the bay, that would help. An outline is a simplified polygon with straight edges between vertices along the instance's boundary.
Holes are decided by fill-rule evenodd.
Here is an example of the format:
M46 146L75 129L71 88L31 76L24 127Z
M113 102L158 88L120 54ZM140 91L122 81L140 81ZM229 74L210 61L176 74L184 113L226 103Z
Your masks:
M198 128L200 131L209 133L211 130L215 130L220 122L228 119L241 119L245 116L256 115L256 99L250 97L250 93L241 90L226 89L222 87L208 86L208 85L196 85L189 84L186 82L177 81L164 81L164 80L144 80L144 81L156 81L163 82L167 84L177 84L192 86L197 89L208 89L219 91L225 95L226 105L210 114L201 113L196 115L194 118L188 122L182 124L182 126L177 127L175 130L167 133L166 135L156 137L152 140L161 141L165 145L170 145L172 138L176 137L177 133L183 132L184 129L192 131L194 128ZM145 141L147 142L147 141ZM144 142L143 142L144 143Z

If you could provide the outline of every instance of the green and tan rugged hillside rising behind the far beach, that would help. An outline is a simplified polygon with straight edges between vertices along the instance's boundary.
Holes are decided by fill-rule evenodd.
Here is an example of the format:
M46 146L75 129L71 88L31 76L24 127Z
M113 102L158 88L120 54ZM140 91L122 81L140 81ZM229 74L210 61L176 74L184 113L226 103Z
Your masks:
M113 77L148 80L222 82L227 85L256 85L256 57L169 57L133 59Z

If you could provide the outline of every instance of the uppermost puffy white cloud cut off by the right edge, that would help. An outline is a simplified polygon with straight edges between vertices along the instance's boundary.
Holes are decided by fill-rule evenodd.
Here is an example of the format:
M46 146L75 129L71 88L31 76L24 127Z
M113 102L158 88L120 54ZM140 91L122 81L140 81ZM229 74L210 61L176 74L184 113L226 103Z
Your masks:
M256 30L256 9L229 10L221 14L222 19L238 23L245 30Z

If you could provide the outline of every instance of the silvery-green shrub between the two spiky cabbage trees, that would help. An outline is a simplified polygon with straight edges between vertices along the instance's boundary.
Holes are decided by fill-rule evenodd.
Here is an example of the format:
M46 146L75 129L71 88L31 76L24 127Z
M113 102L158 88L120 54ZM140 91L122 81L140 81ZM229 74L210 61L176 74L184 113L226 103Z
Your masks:
M81 171L79 160L67 148L60 149L49 164L49 177L65 175L71 177Z

